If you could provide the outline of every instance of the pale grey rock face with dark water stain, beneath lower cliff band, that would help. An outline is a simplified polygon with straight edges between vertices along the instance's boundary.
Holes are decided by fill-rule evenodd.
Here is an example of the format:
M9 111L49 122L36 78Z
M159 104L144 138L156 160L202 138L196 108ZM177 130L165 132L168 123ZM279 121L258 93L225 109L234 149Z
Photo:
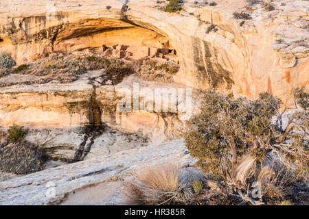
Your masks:
M111 127L30 129L25 140L39 145L47 159L63 162L79 162L100 155L113 155L149 144L149 140L138 133L124 133Z

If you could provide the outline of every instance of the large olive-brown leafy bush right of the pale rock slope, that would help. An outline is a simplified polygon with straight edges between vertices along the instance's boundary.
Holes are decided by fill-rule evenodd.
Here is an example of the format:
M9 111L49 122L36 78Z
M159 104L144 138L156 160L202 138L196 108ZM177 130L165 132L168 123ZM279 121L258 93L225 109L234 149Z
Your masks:
M185 143L192 155L200 158L203 170L226 178L237 157L257 144L255 136L262 144L270 141L271 133L265 128L280 101L265 93L257 101L233 99L213 90L205 92L203 100L201 113L188 123Z

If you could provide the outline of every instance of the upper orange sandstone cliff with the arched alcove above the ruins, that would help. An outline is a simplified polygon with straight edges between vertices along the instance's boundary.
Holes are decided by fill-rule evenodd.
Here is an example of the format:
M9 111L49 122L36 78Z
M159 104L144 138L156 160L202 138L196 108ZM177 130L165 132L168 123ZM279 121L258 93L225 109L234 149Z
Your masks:
M244 0L217 3L185 1L181 12L167 13L157 1L5 2L0 47L19 64L102 44L175 49L181 70L174 80L188 86L250 98L267 90L284 99L308 86L308 1L277 0L271 12L260 4L247 9ZM252 19L240 27L236 11Z

